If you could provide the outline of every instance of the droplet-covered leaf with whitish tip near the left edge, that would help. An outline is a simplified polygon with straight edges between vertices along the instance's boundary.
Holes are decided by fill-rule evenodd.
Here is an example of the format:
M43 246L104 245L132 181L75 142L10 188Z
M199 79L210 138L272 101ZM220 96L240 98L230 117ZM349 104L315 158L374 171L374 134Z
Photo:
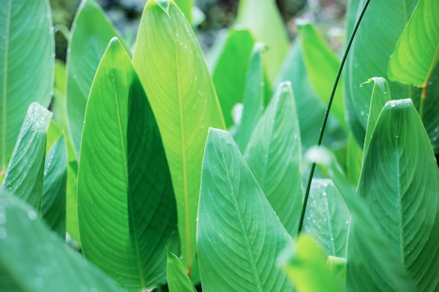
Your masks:
M52 113L40 104L29 106L1 184L37 211L41 211L46 132L51 118Z

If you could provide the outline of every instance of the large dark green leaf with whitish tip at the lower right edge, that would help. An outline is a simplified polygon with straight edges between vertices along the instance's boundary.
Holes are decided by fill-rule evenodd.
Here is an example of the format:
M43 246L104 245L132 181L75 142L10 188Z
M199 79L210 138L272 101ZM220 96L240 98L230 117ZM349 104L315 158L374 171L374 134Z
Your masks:
M437 291L439 278L439 170L430 141L410 99L387 102L374 127L358 183L370 211L398 254L416 291ZM353 291L389 291L396 283L375 270L362 235L349 235L346 285ZM352 244L352 248L351 248Z

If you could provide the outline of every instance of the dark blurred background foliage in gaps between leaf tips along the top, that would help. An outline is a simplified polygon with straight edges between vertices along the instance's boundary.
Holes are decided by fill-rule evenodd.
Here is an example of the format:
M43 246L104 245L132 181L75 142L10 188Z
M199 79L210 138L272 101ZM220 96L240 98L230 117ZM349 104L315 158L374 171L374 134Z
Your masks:
M296 36L295 19L313 22L330 46L338 52L344 36L344 13L348 0L276 0L290 40ZM55 25L56 56L65 60L68 31L81 0L50 0ZM134 43L140 16L147 0L97 0L129 43ZM238 0L196 0L195 5L203 15L197 27L198 40L206 53L222 29L229 27L236 18Z

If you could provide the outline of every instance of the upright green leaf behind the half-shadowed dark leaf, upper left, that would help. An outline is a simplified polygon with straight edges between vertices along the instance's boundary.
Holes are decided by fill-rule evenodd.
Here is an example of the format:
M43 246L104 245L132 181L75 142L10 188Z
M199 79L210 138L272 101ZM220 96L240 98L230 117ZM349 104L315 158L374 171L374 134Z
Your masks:
M95 0L82 0L73 21L72 36L67 48L67 114L76 155L81 144L91 83L97 65L114 36L121 39Z

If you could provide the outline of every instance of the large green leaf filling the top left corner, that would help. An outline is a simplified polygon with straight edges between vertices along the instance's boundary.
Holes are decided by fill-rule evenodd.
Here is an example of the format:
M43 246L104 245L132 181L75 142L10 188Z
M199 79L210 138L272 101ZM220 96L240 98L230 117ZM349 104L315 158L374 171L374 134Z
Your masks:
M4 175L29 104L50 104L54 62L49 1L1 1L0 174Z

